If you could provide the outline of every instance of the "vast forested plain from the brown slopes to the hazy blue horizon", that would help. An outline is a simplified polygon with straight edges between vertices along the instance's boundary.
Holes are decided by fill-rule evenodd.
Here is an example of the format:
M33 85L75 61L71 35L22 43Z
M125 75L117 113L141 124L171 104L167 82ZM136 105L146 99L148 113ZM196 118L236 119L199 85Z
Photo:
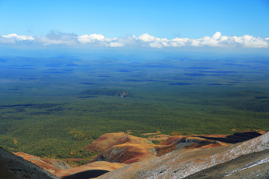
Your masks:
M1 59L0 146L10 152L89 159L98 154L81 148L112 132L269 131L265 57Z

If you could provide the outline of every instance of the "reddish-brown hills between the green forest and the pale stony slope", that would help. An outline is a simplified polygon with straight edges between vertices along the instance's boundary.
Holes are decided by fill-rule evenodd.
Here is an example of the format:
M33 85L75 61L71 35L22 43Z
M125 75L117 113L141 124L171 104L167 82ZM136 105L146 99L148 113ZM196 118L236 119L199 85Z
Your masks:
M246 131L234 135L192 135L192 136L168 136L158 145L153 145L151 140L120 133L102 135L92 144L84 147L89 152L101 152L91 163L77 168L71 168L65 162L56 159L41 159L22 152L14 153L28 160L38 167L56 175L62 179L98 177L107 172L122 168L126 164L132 164L149 158L157 158L169 153L171 150L214 148L227 146L232 143L249 140L262 135L263 132ZM147 134L148 135L148 134ZM159 134L152 136L159 138ZM98 161L98 162L96 162ZM108 162L105 162L108 161ZM113 163L110 163L113 162ZM119 164L121 162L125 164Z

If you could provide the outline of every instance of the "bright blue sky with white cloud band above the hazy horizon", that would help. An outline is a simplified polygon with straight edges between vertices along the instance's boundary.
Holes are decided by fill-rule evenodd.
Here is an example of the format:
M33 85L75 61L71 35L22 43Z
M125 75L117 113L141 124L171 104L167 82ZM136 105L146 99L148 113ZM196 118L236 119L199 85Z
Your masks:
M269 0L0 0L1 47L269 49Z

